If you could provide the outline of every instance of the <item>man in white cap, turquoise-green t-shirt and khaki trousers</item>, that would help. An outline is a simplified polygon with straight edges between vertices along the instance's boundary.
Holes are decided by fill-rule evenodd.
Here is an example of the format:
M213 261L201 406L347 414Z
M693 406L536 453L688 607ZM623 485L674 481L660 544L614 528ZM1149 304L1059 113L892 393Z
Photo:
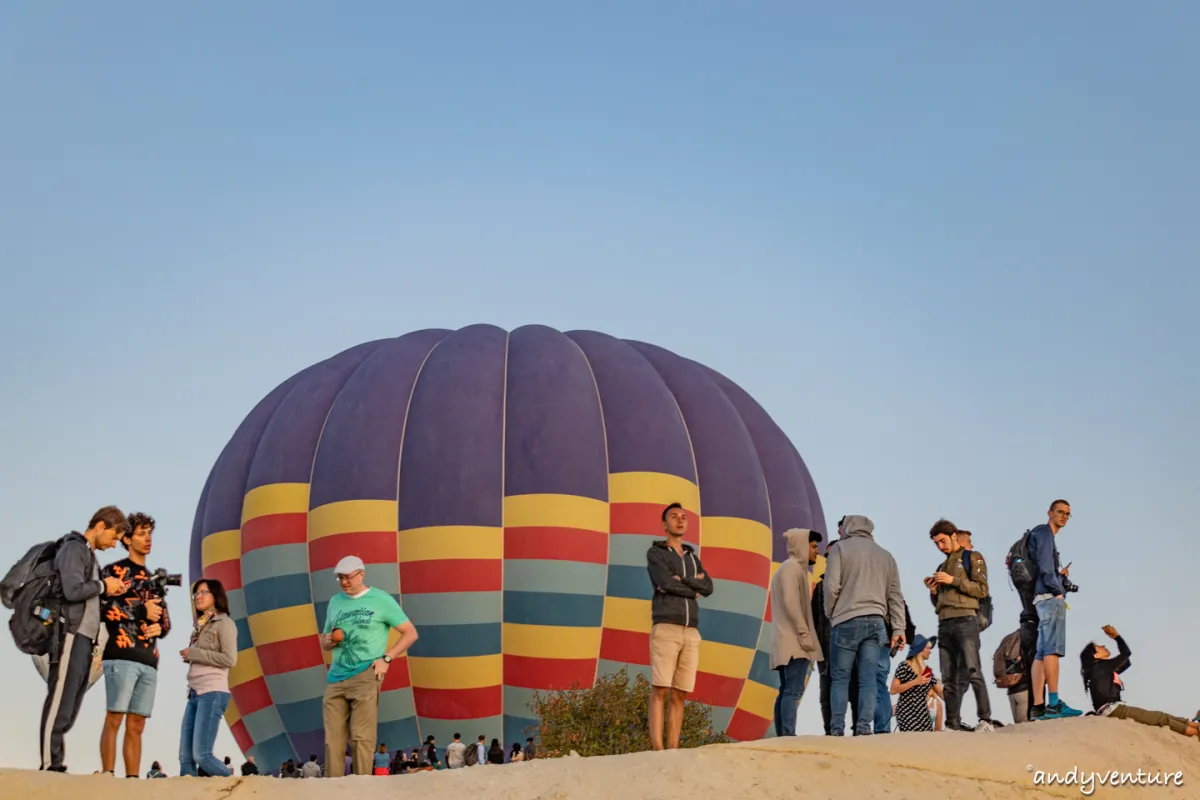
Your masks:
M325 776L346 774L346 747L353 746L354 774L371 775L379 720L379 687L394 658L416 642L416 628L396 599L366 584L366 566L347 555L334 569L342 593L329 601L323 650L334 651L325 684ZM400 633L388 648L388 634Z

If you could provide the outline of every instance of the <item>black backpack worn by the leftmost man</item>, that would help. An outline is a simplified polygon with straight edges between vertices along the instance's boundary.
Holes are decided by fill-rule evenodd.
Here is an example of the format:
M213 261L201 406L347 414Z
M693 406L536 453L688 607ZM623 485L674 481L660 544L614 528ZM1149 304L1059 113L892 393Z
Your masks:
M29 548L0 581L0 602L12 609L8 630L13 642L18 650L31 656L47 655L59 633L65 599L54 558L61 542L60 539Z

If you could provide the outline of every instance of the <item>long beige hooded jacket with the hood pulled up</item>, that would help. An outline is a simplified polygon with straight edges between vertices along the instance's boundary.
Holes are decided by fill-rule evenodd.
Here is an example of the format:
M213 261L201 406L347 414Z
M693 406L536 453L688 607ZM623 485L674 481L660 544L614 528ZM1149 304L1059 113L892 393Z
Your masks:
M824 654L812 624L809 599L809 531L793 528L784 534L787 560L770 579L770 668L792 658L821 661Z

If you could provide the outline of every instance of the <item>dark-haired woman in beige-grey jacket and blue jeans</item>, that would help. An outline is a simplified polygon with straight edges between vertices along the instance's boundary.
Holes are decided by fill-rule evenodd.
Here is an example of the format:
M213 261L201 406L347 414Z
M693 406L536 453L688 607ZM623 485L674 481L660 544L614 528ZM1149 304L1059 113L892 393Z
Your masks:
M238 627L229 616L229 599L220 581L202 578L192 585L196 627L179 655L187 669L187 708L179 736L179 774L214 777L233 771L212 754L221 717L229 708L229 668L238 663Z

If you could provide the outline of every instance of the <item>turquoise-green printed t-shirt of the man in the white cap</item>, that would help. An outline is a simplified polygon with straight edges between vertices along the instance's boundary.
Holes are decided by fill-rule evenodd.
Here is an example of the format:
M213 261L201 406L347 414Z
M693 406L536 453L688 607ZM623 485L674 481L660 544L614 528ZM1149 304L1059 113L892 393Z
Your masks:
M408 621L396 599L371 587L360 597L334 595L325 612L325 633L341 628L342 643L334 648L326 680L340 684L359 675L388 651L388 632Z

